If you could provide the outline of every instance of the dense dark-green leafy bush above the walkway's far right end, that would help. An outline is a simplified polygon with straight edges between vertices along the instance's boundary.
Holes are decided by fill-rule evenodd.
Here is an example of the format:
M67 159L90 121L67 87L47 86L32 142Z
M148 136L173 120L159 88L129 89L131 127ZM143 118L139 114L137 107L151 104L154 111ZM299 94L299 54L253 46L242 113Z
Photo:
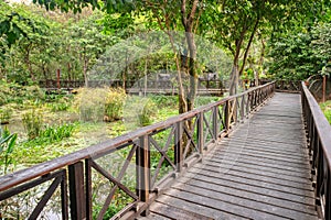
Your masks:
M310 31L289 33L273 42L269 72L275 78L303 80L317 75L331 61L331 25L316 24Z

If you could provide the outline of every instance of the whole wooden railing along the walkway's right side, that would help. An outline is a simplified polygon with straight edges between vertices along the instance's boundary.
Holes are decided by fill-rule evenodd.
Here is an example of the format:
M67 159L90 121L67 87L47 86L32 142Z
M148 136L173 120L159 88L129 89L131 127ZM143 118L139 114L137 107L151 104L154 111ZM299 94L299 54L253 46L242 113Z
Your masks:
M317 205L322 218L331 219L331 127L305 82L301 86Z

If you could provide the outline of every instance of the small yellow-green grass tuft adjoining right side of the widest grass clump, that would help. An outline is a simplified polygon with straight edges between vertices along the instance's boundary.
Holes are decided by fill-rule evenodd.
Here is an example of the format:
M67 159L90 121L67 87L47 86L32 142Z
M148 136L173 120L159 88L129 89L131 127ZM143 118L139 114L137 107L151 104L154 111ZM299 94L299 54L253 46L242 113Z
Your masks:
M121 88L109 88L105 101L105 121L116 121L122 118L126 91Z

